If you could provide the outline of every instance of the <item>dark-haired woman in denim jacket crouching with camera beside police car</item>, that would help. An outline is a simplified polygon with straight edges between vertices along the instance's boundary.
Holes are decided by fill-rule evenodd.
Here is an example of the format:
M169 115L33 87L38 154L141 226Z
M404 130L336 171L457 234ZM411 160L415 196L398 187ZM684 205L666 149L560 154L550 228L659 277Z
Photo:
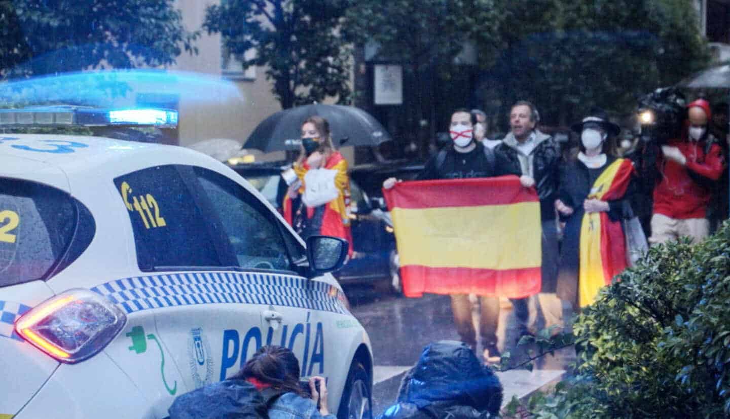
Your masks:
M228 380L246 380L258 391L272 389L280 396L269 405L270 419L336 419L327 409L327 385L323 377L311 377L308 391L299 383L299 361L282 346L261 347L243 368Z

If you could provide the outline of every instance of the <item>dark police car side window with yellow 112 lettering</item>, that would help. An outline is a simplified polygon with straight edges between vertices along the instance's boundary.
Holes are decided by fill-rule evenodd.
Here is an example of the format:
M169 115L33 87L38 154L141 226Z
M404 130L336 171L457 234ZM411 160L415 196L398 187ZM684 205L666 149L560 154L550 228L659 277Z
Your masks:
M127 208L143 271L222 266L205 217L177 166L155 166L114 180Z

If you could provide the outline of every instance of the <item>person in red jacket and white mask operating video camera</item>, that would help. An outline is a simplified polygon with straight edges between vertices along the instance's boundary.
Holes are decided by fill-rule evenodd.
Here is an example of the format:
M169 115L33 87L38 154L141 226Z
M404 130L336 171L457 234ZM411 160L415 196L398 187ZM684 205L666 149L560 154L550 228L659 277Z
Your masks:
M712 184L723 174L722 148L707 129L710 103L697 99L688 104L682 138L661 146L659 176L654 188L651 237L653 244L679 237L699 242L710 231L706 217Z

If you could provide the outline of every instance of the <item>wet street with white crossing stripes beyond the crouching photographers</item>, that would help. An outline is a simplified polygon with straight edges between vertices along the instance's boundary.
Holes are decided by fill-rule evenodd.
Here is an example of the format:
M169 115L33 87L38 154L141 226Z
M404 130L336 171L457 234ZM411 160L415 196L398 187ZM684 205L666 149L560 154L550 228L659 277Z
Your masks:
M415 364L424 346L441 339L458 340L453 326L448 296L426 294L420 299L396 298L362 288L345 288L353 304L353 315L366 328L374 353L373 412L379 415L393 404L403 373ZM531 307L534 309L534 307ZM503 307L500 311L499 348L512 354L510 365L522 364L534 345L516 346L518 328L514 310ZM565 312L569 315L568 312ZM475 323L479 321L475 310ZM538 320L537 327L542 327ZM478 328L477 328L478 330ZM481 353L481 348L477 349ZM512 396L521 398L548 383L563 377L575 362L572 347L545 355L534 362L534 372L512 369L497 375L504 386L504 404Z

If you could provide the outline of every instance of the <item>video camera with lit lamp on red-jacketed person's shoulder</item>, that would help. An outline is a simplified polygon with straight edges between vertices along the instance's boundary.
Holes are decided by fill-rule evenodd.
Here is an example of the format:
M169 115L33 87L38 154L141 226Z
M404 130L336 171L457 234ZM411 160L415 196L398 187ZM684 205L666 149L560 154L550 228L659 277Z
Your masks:
M686 117L686 102L677 88L659 88L639 99L642 140L664 145L669 139L679 137Z

